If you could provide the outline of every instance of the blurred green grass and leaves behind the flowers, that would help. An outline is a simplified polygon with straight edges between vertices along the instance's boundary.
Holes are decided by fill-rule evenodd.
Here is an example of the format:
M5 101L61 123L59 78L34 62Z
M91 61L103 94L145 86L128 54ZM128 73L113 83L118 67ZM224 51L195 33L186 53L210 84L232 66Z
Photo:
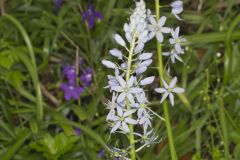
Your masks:
M112 34L123 31L134 2L66 0L59 9L53 0L0 2L0 159L111 159L106 148L121 137L109 139L104 105L109 96L103 88L108 73L100 60L115 46ZM103 15L92 29L82 17L90 4ZM147 1L147 7L153 11L154 3ZM168 19L188 40L184 65L171 71L186 88L170 108L177 155L239 160L240 1L184 0L184 8L183 21ZM169 13L163 8L161 15ZM155 43L147 48L156 53ZM76 55L94 70L93 82L78 101L66 101L62 70L75 64ZM149 72L157 76L155 67ZM148 97L163 115L160 97L152 92L158 82ZM139 157L170 159L165 124L156 118L154 125L162 141Z

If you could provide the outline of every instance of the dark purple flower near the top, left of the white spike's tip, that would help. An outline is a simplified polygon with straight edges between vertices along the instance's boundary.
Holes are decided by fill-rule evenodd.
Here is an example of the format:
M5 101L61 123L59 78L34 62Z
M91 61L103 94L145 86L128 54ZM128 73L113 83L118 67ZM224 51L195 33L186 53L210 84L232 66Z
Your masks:
M90 5L87 10L83 12L83 19L87 21L89 28L93 28L96 19L103 19L100 12L94 10L94 6Z

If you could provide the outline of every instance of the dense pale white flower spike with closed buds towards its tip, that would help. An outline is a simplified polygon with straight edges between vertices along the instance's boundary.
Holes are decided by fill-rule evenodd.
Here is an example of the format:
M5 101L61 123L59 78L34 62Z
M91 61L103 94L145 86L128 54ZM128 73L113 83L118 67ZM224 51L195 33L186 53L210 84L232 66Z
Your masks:
M112 100L107 104L109 113L106 120L111 127L110 133L131 134L130 125L141 126L142 133L133 134L142 138L142 146L147 146L158 141L158 137L152 130L152 113L148 108L149 102L144 90L146 85L153 83L155 77L143 78L143 73L152 63L152 53L144 51L150 32L143 0L136 2L130 22L125 23L123 28L127 41L119 34L115 34L114 39L128 55L114 48L109 54L116 57L120 63L102 60L104 66L114 71L114 75L108 75L106 86L112 93Z

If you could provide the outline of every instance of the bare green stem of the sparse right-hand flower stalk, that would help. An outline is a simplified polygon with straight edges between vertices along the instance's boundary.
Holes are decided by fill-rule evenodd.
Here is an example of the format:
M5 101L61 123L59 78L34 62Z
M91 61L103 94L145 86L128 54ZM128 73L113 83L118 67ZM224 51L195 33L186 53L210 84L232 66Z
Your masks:
M156 11L156 19L158 20L160 18L159 0L155 0L155 11ZM159 64L158 72L159 72L160 78L163 78L162 46L158 41L157 41L157 54L158 54L158 64ZM160 80L160 86L163 86L161 80ZM163 103L163 111L164 111L164 115L165 115L165 123L166 123L166 127L167 127L167 134L168 134L171 158L172 158L172 160L177 160L177 155L176 155L176 151L175 151L175 147L174 147L172 130L171 130L169 109L168 109L168 105L166 102Z

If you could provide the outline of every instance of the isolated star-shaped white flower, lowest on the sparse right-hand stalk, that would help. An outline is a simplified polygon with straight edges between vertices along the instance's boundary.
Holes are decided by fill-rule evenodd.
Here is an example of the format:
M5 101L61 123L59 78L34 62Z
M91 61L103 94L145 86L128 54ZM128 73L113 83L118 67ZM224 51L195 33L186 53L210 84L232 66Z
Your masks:
M177 83L177 77L174 77L169 85L164 80L162 80L162 81L163 81L164 88L155 88L155 92L164 93L160 103L162 103L169 96L170 103L172 106L174 106L173 93L183 93L184 89L175 87L175 85Z

